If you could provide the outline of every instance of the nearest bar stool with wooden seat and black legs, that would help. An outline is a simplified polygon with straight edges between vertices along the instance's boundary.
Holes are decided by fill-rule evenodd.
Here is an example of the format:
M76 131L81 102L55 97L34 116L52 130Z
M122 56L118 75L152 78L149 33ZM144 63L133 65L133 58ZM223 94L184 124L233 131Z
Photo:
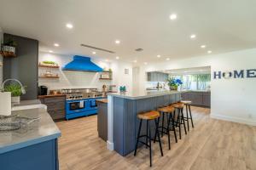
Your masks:
M136 141L136 146L135 146L135 150L134 150L134 156L136 156L137 144L139 142L146 145L147 147L149 147L150 167L152 167L152 148L151 148L151 140L152 139L151 139L151 132L150 132L150 127L148 127L148 123L149 123L149 121L154 120L155 127L158 127L159 122L157 122L156 120L160 117L160 112L159 111L148 111L148 112L144 112L144 113L139 113L137 115L137 117L140 119L140 125L139 125L139 129L138 129L138 133L137 133L137 141ZM143 120L147 121L147 135L140 135ZM160 133L158 131L158 128L155 128L155 133L158 136L158 142L159 142L159 145L160 145L161 156L164 156L161 141L160 141ZM140 138L143 138L143 137L146 137L146 143L139 140ZM148 144L148 139L149 139L149 144Z

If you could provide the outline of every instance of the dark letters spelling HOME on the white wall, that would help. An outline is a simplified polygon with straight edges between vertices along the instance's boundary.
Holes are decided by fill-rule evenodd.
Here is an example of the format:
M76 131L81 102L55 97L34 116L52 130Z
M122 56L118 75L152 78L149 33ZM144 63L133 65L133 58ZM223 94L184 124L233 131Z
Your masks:
M256 78L256 69L240 71L213 71L213 79Z

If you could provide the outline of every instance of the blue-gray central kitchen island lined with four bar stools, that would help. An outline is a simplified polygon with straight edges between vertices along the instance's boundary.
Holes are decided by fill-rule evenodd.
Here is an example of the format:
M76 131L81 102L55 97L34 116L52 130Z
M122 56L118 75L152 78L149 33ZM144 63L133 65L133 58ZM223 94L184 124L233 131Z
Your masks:
M160 90L108 94L108 150L115 150L121 156L131 153L135 148L139 125L137 114L175 103L181 100L181 93ZM142 132L144 129L145 124Z

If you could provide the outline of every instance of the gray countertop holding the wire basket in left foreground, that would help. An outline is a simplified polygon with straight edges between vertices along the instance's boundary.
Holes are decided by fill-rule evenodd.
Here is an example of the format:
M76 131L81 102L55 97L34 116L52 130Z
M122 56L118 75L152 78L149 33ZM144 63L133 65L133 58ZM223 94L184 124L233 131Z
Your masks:
M61 131L55 125L45 109L29 109L12 111L12 115L31 118L40 117L36 122L27 127L21 127L14 131L0 131L0 154L11 150L24 148L32 144L39 144L61 136Z

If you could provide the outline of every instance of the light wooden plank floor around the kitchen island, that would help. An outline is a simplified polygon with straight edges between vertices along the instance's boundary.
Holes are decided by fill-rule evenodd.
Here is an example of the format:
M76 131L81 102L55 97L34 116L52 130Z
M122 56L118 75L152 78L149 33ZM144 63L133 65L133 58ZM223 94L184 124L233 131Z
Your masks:
M137 156L119 156L106 149L98 138L96 116L57 122L61 129L59 161L61 170L88 169L195 169L243 170L256 169L256 127L210 118L209 109L192 108L195 128L167 150L163 138L164 156L154 144L153 167L149 167L148 150L139 149Z

